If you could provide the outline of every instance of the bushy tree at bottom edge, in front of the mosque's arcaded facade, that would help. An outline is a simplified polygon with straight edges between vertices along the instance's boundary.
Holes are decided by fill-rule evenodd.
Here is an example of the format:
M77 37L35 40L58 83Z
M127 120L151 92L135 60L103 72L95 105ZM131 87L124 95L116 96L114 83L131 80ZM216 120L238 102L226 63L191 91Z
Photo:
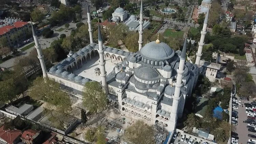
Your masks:
M149 126L144 121L138 120L126 129L124 138L133 144L154 144L154 135L153 126Z

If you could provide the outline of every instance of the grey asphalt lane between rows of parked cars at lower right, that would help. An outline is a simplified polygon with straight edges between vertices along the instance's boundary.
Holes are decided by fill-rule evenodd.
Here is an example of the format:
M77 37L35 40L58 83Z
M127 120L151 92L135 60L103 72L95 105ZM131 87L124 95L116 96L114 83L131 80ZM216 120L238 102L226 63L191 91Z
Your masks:
M238 101L241 101L242 104L244 103L251 103L252 99L250 99L250 101L246 101L246 100L240 100L239 97L236 97L238 99ZM253 139L248 137L248 134L253 134L255 135L256 133L254 132L249 132L248 128L246 128L247 124L243 123L243 121L245 121L247 119L247 114L245 113L245 106L238 106L238 125L234 126L232 125L232 131L238 133L238 143L239 144L246 144L248 139Z

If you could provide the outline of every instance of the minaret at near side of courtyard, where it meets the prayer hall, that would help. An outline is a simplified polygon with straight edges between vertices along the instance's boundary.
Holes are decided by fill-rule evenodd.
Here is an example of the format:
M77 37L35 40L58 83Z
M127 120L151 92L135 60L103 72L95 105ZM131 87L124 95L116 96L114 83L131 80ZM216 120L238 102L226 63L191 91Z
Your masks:
M102 46L102 36L100 31L100 24L98 24L98 43L99 43L99 54L100 54L100 76L101 84L105 88L106 95L109 94L108 86L106 84L106 71L105 71L105 60L104 60L104 50Z

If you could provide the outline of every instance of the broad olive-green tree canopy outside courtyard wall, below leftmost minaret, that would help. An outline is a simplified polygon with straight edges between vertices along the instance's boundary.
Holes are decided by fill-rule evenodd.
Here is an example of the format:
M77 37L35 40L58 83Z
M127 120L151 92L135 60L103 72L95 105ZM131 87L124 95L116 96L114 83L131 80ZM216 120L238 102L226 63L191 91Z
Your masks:
M60 89L60 84L53 80L37 77L30 87L29 95L36 100L44 100L56 106L61 113L71 110L71 101L67 92Z

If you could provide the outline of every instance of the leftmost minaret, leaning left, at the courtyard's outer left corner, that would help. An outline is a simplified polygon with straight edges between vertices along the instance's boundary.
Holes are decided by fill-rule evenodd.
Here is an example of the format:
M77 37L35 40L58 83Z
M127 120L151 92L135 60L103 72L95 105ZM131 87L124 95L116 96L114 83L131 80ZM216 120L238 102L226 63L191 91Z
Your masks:
M30 21L31 21L33 38L34 38L34 42L35 42L35 48L37 49L37 54L38 54L37 57L40 61L41 68L42 68L42 71L43 71L43 78L48 78L47 73L46 73L45 63L44 63L44 55L43 55L42 49L41 49L41 44L39 44L37 35L35 34L35 30L34 30L34 27L33 27L32 20L30 19Z

